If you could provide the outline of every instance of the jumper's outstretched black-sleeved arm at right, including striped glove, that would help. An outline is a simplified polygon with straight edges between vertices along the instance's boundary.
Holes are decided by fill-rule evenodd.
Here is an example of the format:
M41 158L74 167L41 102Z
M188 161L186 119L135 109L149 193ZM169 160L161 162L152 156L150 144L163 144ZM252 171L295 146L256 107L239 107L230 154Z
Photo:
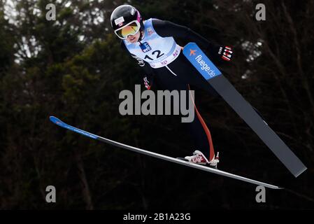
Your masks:
M192 31L188 27L177 25L166 20L152 20L152 25L159 36L172 36L173 38L183 38L197 43L204 50L208 50L210 57L229 61L232 56L231 48L224 45L217 45L206 40L203 36Z

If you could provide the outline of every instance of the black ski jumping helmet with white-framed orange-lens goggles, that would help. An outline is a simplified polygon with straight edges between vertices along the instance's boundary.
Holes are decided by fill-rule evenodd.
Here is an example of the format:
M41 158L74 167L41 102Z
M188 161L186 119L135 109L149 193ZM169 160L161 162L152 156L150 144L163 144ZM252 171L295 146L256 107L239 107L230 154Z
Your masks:
M142 39L142 33L144 29L143 20L141 14L129 5L118 6L113 10L110 16L110 23L115 35L122 40L127 39L127 36L137 34L140 31L139 41Z

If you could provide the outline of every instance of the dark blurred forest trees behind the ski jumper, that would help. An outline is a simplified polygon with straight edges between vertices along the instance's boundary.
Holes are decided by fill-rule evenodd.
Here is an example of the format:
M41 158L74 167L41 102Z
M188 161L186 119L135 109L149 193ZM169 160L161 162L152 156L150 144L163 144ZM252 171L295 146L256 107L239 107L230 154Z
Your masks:
M55 3L57 20L45 6ZM314 1L128 1L234 47L225 76L308 170L297 179L221 99L196 92L220 169L255 186L125 151L50 123L171 156L192 148L171 117L120 116L143 71L120 49L110 13L124 1L0 1L0 209L314 209ZM266 21L255 20L264 3ZM184 45L187 40L181 40ZM143 84L142 84L143 87ZM144 88L144 87L143 87ZM57 202L45 202L46 186Z

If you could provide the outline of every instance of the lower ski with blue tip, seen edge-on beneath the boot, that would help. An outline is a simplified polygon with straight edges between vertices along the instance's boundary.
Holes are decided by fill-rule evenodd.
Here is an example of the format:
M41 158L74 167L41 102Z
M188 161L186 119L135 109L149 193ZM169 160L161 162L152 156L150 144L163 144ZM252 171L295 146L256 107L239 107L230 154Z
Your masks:
M192 168L195 168L195 169L201 169L201 170L206 171L206 172L219 174L219 175L222 175L222 176L227 176L227 177L229 177L231 179L237 179L239 181L245 181L245 182L248 182L248 183L256 184L257 186L264 186L266 188L271 188L271 189L283 189L283 188L280 188L278 186L273 186L273 185L271 185L269 183L255 181L255 180L252 180L252 179L245 178L243 176L238 176L238 175L231 174L231 173L228 173L228 172L223 172L223 171L221 171L219 169L213 169L213 168L210 168L210 167L197 165L197 164L194 164L194 163L191 163L191 162L186 162L184 160L172 158L172 157L169 157L167 155L162 155L162 154L159 154L159 153L153 153L153 152L150 152L150 151L145 151L145 150L143 150L141 148L128 146L126 144L122 144L120 142L113 141L113 140L110 140L110 139L105 139L104 137L99 137L96 134L92 134L90 132L85 132L84 130L80 130L77 127L73 127L71 125L67 125L66 123L62 122L61 120L59 120L58 118L56 118L54 116L50 116L50 120L52 121L52 123L55 123L56 125L59 125L60 127L64 127L67 130L71 130L72 132L77 132L79 134L85 135L86 137L90 137L92 139L96 139L96 140L105 142L107 144L111 144L113 146L124 148L124 149L130 150L130 151L134 151L136 153L149 155L149 156L152 156L154 158L159 158L159 159L166 160L166 161L169 161L169 162L174 162L174 163L177 163L177 164L180 164L180 165L185 165L187 167L192 167Z

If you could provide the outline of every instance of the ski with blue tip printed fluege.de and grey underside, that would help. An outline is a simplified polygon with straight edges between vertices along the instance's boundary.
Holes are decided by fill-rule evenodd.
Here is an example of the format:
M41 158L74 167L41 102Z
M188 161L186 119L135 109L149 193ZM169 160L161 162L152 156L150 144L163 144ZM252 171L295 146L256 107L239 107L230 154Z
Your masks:
M257 114L234 86L229 83L229 80L222 75L196 43L185 45L183 54L295 177L307 169L283 140L271 130L271 127Z

